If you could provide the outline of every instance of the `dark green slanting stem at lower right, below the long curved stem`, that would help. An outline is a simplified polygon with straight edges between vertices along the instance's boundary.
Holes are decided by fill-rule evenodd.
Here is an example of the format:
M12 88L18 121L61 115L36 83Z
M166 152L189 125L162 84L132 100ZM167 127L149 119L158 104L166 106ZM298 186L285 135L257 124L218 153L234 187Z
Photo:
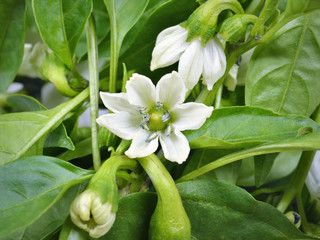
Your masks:
M299 164L292 176L289 186L278 203L277 209L284 213L292 200L302 191L305 179L312 164L315 151L305 151L302 153Z

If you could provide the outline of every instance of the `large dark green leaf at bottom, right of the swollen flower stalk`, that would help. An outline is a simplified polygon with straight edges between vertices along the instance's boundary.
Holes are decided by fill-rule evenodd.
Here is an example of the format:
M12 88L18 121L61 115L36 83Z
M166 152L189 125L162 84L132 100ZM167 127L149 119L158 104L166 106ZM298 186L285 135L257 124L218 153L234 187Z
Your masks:
M234 185L196 180L177 187L193 239L314 239L302 234L277 209Z

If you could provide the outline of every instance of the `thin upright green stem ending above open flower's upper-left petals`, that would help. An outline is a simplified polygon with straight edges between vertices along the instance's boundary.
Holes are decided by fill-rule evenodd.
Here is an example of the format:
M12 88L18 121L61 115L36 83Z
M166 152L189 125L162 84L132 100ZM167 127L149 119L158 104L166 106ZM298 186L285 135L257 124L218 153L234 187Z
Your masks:
M105 5L107 7L109 17L110 17L110 31L111 31L111 46L110 46L110 82L109 82L109 92L116 92L116 82L117 82L117 67L118 67L118 36L117 36L117 19L114 1L110 1L107 3L105 1Z

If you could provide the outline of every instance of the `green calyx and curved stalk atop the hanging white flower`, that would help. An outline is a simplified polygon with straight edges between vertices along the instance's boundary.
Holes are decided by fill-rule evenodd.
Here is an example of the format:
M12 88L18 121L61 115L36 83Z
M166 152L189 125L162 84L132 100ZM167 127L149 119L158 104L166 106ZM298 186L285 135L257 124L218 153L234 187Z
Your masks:
M236 14L244 13L241 4L237 0L208 0L198 7L181 24L188 30L187 41L200 37L203 46L215 35L219 14L224 10L231 10Z

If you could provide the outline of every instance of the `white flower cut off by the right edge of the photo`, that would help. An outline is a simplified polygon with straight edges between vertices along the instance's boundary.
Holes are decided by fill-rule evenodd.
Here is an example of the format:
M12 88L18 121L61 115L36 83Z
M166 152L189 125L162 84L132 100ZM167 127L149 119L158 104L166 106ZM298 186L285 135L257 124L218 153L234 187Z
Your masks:
M313 199L320 204L320 151L316 152L308 176L306 185Z

